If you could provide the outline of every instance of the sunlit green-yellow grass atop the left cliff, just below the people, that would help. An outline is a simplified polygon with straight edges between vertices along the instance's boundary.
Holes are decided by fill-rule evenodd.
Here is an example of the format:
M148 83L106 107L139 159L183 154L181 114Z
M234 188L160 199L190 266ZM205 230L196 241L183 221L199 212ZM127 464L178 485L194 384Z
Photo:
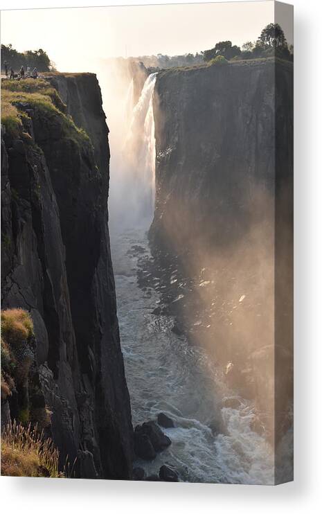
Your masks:
M25 107L36 109L44 116L56 116L64 136L77 143L89 142L89 136L75 125L66 114L66 105L55 88L46 80L2 80L1 81L1 123L6 132L17 136L23 132L23 121L27 117Z

